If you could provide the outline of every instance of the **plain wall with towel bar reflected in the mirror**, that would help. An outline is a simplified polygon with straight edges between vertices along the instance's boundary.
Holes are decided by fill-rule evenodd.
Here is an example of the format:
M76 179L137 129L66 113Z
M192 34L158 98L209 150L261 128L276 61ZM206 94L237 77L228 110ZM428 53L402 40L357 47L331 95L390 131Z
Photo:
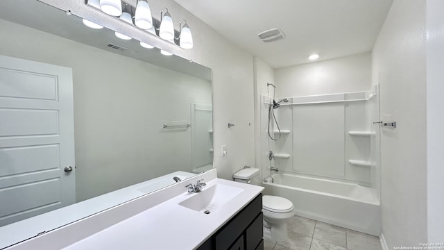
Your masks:
M209 81L1 19L0 27L1 54L73 69L77 201L191 172L191 130L161 128L190 123L191 100L211 104Z

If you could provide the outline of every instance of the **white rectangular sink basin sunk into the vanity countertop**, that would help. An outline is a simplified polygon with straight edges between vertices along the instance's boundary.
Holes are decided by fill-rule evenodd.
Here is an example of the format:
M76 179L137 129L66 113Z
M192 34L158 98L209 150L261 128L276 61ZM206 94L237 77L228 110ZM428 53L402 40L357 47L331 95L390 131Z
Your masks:
M208 188L203 188L203 191L193 194L192 197L180 202L179 205L198 212L211 213L236 197L242 191L244 191L242 188L216 184Z

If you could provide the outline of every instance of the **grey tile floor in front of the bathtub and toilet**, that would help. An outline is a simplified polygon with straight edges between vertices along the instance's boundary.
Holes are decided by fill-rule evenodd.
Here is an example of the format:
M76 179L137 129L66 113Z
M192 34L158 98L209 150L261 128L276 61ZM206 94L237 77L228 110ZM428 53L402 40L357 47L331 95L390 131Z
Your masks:
M289 240L264 240L265 250L382 250L379 238L339 226L293 217L287 223Z

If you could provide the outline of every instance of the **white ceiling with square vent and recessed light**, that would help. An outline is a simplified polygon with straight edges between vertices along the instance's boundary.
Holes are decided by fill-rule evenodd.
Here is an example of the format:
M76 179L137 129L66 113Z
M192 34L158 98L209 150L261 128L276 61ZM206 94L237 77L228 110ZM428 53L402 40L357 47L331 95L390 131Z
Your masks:
M273 68L371 51L393 0L174 0ZM191 26L191 24L190 24ZM284 40L257 34L280 28ZM192 27L191 27L192 31Z

